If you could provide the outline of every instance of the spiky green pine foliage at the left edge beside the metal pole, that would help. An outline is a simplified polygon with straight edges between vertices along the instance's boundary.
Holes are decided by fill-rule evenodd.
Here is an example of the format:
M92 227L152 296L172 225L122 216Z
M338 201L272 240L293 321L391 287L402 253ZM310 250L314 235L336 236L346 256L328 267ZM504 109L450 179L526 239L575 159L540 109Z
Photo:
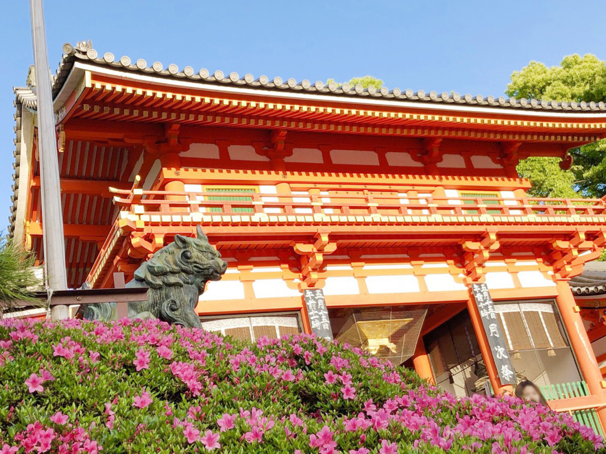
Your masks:
M35 305L32 289L41 284L36 276L35 256L12 239L0 242L0 316L19 301Z

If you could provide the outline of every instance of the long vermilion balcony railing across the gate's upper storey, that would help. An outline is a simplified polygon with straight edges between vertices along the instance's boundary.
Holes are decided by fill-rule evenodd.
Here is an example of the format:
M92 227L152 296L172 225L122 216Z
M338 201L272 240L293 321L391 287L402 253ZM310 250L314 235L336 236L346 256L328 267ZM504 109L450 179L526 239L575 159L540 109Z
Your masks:
M410 216L431 216L432 221L604 222L604 199L431 197L370 190L325 193L170 192L114 190L115 203L135 215L192 215L213 221L238 219L283 221L389 221L410 222ZM405 219L404 219L405 218ZM387 219L386 219L387 220Z

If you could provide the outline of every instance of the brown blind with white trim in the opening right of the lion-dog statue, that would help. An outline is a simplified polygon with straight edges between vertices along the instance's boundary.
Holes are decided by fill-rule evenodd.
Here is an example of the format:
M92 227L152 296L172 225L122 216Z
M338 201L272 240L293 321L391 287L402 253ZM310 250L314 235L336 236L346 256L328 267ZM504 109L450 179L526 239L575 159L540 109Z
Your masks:
M302 332L301 322L296 313L275 313L269 315L247 316L237 318L201 317L202 328L231 336L241 341L255 342L267 336L268 339L277 339L288 334Z

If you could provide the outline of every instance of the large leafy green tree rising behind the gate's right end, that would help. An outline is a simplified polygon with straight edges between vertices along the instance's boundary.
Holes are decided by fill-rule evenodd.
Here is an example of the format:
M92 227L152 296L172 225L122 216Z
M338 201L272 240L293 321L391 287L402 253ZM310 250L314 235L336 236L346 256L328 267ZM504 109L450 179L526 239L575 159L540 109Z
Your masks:
M605 101L606 63L591 54L568 55L552 67L531 61L513 72L505 93L550 101ZM571 187L582 196L601 197L606 193L605 152L602 140L570 150L574 165L568 171L559 169L556 158L528 158L518 165L518 173L532 182L533 196L570 196L565 188Z

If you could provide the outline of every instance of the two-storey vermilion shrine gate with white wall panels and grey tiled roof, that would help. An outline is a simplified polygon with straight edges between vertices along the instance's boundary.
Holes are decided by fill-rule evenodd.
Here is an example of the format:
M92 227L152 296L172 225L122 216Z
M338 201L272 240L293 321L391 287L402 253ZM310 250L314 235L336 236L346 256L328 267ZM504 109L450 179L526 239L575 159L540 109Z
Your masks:
M604 247L606 202L530 198L516 164L570 165L567 150L604 138L602 103L64 53L53 96L71 287L128 280L201 225L229 264L196 308L205 329L252 340L325 329L455 395L482 379L511 389L515 371L601 430L606 383L568 280ZM33 90L31 74L16 88L10 229L43 261Z

